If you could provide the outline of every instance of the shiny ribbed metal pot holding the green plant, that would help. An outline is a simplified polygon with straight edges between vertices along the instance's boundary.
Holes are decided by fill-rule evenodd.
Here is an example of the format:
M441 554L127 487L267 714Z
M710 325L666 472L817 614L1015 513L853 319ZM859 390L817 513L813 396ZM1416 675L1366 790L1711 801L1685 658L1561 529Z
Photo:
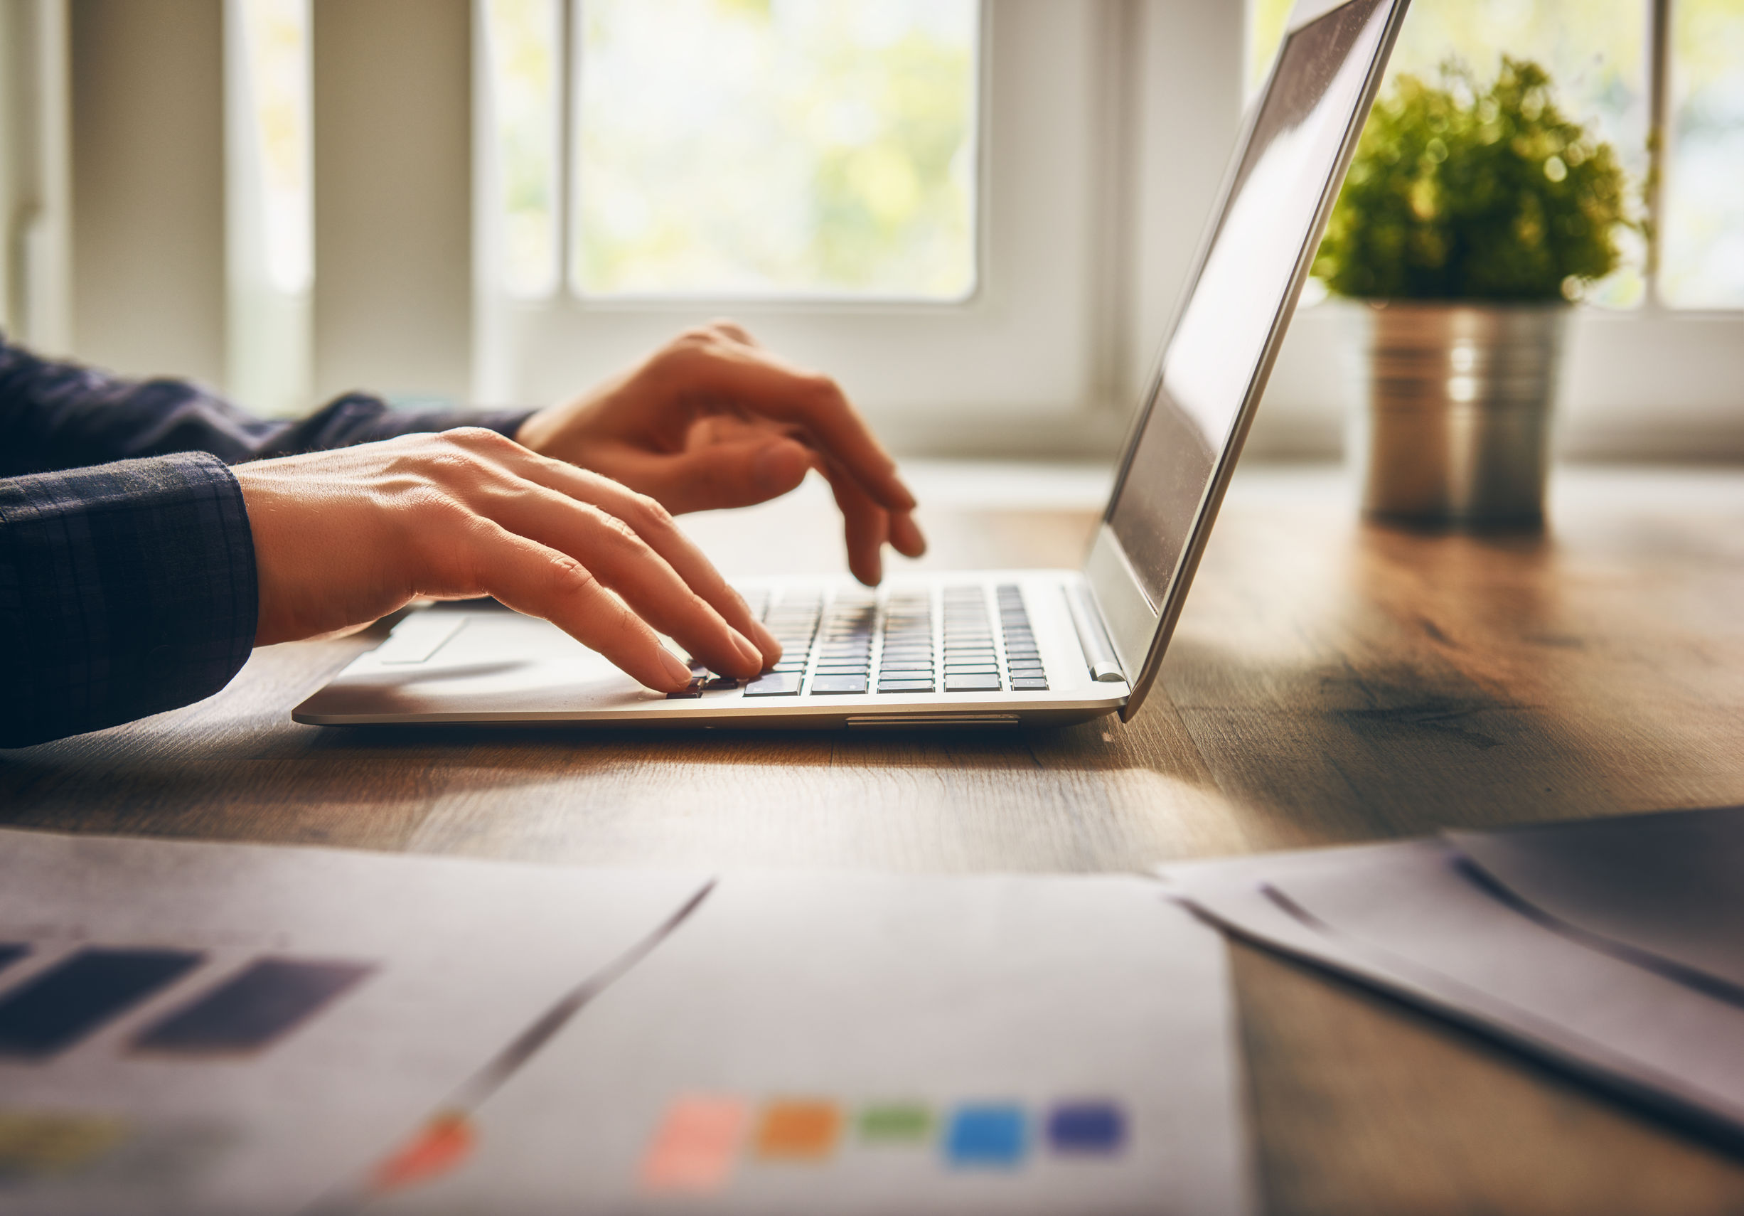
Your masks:
M1360 311L1350 452L1367 515L1542 527L1568 307L1378 304Z

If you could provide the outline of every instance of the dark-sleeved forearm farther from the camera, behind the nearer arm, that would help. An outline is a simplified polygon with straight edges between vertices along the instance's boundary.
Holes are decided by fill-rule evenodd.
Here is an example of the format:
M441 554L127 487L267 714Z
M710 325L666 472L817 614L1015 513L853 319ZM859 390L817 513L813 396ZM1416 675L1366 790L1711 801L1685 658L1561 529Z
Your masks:
M525 417L396 412L378 398L352 393L307 419L265 420L183 380L124 380L0 342L0 476L173 452L209 452L239 464L459 426L513 436Z

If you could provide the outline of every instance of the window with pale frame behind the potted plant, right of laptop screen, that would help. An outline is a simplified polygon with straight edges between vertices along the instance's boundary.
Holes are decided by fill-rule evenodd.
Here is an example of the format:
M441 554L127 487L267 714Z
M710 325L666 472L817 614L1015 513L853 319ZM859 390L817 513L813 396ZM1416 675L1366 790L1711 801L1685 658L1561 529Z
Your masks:
M1249 89L1287 0L1247 0ZM1575 312L1557 443L1603 459L1741 459L1744 426L1744 2L1413 0L1390 72L1538 59L1643 187L1653 246ZM1650 133L1659 133L1650 140ZM1646 187L1657 180L1659 190ZM1310 284L1313 286L1313 284ZM1305 302L1308 297L1305 295ZM1305 307L1278 354L1250 450L1332 455L1350 401L1352 309Z

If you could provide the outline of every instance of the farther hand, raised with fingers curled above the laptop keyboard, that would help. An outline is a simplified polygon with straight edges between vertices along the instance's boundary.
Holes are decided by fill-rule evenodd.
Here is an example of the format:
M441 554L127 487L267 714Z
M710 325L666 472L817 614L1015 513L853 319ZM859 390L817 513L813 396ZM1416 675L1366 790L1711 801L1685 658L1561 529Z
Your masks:
M532 415L514 438L675 515L764 502L818 469L842 509L855 577L882 577L886 541L907 557L926 551L914 495L841 387L731 321L678 335L631 372Z

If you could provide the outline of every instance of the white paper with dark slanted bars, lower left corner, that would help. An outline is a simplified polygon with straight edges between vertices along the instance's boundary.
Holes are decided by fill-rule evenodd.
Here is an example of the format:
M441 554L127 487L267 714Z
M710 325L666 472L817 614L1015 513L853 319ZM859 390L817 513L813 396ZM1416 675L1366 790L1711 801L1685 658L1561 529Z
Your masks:
M206 961L47 1061L0 1057L5 1120L110 1122L117 1143L0 1179L7 1213L290 1213L366 1171L530 1019L682 905L703 876L563 871L310 848L0 832L14 991L80 946ZM263 954L377 970L237 1059L129 1049Z

